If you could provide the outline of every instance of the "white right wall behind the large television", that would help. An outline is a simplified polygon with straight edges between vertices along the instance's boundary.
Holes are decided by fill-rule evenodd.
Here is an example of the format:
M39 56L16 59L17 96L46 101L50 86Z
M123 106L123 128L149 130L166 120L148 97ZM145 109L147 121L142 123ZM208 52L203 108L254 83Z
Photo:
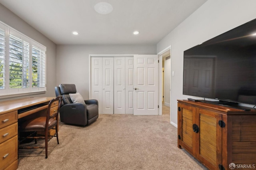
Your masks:
M177 99L182 95L183 51L256 18L256 0L208 0L157 44L157 52L172 45L171 123L178 124ZM195 97L192 97L195 98Z

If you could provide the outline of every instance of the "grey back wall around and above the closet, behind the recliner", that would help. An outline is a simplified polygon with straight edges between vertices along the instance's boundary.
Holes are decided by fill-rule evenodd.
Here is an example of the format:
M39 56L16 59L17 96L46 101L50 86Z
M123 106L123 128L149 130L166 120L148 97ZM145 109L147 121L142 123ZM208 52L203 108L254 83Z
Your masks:
M156 45L57 45L57 85L72 83L89 99L90 54L156 54Z

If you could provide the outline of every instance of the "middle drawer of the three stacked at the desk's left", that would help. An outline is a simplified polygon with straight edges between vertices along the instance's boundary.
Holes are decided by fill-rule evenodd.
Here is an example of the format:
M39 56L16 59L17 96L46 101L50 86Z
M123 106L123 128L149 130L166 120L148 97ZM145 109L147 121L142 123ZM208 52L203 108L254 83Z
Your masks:
M0 129L0 143L18 134L18 123Z

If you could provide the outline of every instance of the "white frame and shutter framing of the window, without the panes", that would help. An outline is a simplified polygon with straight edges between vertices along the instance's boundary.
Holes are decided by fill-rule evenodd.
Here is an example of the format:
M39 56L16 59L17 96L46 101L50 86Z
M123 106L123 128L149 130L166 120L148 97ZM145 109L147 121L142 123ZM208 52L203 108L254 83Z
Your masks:
M23 95L32 95L32 94L40 94L40 93L45 93L46 92L46 47L38 42L36 42L35 40L33 40L32 38L29 38L28 36L22 34L21 32L15 30L14 28L6 25L5 23L0 21L0 29L4 30L5 32L5 41L4 41L4 59L1 58L1 60L4 60L4 68L3 68L3 72L4 72L4 85L3 88L0 88L0 99L3 98L7 98L7 97L18 97L18 96L23 96ZM10 35L22 40L22 42L26 42L29 44L29 52L28 54L24 53L24 46L22 43L22 59L20 61L22 61L22 77L26 76L27 79L26 81L28 81L28 86L24 86L24 83L22 82L22 87L21 88L10 88ZM36 70L36 74L39 75L40 78L43 79L43 83L40 84L40 86L37 87L33 87L32 83L32 58L33 58L33 48L36 49L40 49L40 54L38 55L40 58L42 57L43 60L40 60L38 63L39 65L41 65L42 63L42 68L40 67L41 70ZM24 71L24 59L26 57L24 57L24 55L28 55L28 60L26 62L28 62L28 67L27 68L27 75L24 75L25 71ZM1 71L1 70L0 70ZM38 72L37 72L38 71ZM36 79L36 83L41 83L40 81L42 80L38 80ZM23 81L23 80L22 80Z

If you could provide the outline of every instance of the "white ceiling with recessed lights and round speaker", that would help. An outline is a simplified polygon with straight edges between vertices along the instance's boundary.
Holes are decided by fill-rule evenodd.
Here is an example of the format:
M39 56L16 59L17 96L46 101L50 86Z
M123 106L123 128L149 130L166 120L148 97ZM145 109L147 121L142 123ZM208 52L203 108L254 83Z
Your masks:
M156 44L207 0L0 0L56 44ZM113 11L98 14L108 2ZM140 34L133 35L134 30ZM72 32L77 31L77 36Z

